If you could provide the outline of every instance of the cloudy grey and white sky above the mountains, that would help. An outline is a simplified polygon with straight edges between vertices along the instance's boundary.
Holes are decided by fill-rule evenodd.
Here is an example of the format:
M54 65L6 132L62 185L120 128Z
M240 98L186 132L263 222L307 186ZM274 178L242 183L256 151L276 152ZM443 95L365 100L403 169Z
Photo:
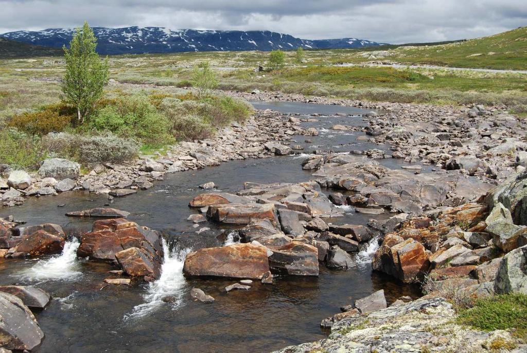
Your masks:
M0 0L0 33L161 26L377 42L473 38L527 25L527 0Z

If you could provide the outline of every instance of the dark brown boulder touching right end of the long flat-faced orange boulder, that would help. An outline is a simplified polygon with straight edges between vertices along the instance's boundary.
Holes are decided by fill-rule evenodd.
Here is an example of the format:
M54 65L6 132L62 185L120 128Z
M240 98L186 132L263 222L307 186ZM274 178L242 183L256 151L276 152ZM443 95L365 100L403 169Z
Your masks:
M304 242L291 241L284 246L272 248L269 266L287 274L318 276L318 249Z

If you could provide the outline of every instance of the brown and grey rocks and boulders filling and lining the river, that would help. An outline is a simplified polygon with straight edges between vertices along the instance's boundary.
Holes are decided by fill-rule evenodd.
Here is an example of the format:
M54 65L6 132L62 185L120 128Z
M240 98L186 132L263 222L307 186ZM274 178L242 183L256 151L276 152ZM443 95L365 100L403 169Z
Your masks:
M253 100L307 100L258 92L237 95ZM349 122L346 114L336 113L342 121L330 129L314 127L321 119L316 113L259 111L246 125L235 124L214 139L181 143L165 156L128 165L96 165L85 175L80 175L76 163L48 160L38 175L6 171L2 198L5 205L14 205L23 202L22 195L72 189L121 197L153 188L167 173L306 152L308 146L312 149L307 151L314 153L290 159L292 168L304 170L305 180L267 178L266 182L247 181L230 191L214 189L217 185L210 180L200 183L202 190L212 190L187 200L188 222L200 228L198 235L222 241L184 253L181 272L194 285L190 298L218 305L226 292L265 292L266 287L317 277L328 269L355 273L358 262L372 256L376 272L404 283L426 283L425 298L412 301L390 294L387 300L382 287L371 296L355 298L354 304L332 295L342 312L315 318L331 328L330 338L282 351L459 350L467 339L474 347L490 351L498 338L523 347L510 332L483 333L455 326L449 321L455 317L452 305L441 298L458 301L527 288L524 122L506 113L505 107L315 101L375 111ZM343 136L339 141L352 139L346 136L355 141L344 144L344 151L343 144L311 147L311 139L319 134L324 135L318 138L330 139L330 133ZM390 162L397 160L404 162ZM2 220L3 264L61 253L75 236L79 257L112 263L104 286L130 285L133 290L135 283L144 281L155 288L170 258L163 244L166 237L126 220L127 211L96 207L68 212L71 217L108 218L95 221L91 231L81 234L68 234L58 224L19 227L13 219ZM209 278L228 282L218 292L218 285L207 286ZM24 307L29 306L25 297L20 303L12 296L2 297L3 304L33 331L12 330L8 326L13 321L3 328L10 337L3 344L31 350L40 344L42 331ZM158 299L179 300L174 295ZM15 338L19 339L16 344Z

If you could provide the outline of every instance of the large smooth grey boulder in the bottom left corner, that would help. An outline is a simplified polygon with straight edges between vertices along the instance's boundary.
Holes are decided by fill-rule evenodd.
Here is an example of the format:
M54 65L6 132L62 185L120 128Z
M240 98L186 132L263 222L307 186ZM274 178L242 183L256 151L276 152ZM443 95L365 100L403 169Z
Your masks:
M0 347L12 350L33 350L44 332L23 301L12 294L0 292Z

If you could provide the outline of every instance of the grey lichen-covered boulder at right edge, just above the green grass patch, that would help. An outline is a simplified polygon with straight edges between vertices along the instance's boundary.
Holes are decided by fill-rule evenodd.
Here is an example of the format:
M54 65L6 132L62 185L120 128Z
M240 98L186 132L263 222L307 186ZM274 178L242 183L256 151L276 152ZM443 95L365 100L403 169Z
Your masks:
M500 262L494 280L496 293L527 294L527 246L512 250Z

